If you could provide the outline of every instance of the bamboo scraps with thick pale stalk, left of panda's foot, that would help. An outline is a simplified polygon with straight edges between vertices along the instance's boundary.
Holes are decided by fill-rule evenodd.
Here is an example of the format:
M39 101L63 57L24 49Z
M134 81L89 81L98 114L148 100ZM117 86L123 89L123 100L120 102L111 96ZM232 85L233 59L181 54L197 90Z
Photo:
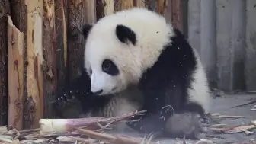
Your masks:
M100 141L123 144L152 143L142 137L115 136L104 133L109 126L127 120L146 110L125 114L121 117L89 117L82 119L40 119L40 128L32 130L16 130L13 126L0 127L0 143L27 142L84 142L98 143Z

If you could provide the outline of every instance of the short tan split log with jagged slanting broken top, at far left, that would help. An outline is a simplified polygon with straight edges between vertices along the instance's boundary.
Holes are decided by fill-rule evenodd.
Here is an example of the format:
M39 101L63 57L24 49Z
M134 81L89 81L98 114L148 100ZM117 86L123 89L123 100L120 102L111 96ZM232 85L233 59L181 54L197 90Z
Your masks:
M23 125L23 42L24 34L8 16L8 125L17 130L21 130Z

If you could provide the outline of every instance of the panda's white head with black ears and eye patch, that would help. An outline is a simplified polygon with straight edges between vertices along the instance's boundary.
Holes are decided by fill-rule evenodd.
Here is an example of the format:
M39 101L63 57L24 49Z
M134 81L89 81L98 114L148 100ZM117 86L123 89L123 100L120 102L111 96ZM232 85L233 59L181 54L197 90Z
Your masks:
M165 18L142 8L120 11L85 27L85 69L91 91L114 94L136 85L169 43Z

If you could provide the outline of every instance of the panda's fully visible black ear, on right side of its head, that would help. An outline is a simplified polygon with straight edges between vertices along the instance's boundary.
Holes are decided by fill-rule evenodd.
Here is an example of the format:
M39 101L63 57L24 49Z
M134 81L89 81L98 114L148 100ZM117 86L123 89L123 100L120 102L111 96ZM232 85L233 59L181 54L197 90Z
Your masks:
M122 24L118 24L116 27L116 34L117 38L122 43L127 43L128 41L130 41L131 43L133 43L133 45L136 44L136 34L129 27L126 27Z

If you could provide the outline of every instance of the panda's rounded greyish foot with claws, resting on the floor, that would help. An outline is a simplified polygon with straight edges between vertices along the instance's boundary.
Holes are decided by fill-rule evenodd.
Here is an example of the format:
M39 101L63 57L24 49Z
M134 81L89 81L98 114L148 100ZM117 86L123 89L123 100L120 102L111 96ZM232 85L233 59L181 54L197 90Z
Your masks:
M203 139L207 133L206 123L199 114L174 114L165 125L165 131L171 136L188 139Z

